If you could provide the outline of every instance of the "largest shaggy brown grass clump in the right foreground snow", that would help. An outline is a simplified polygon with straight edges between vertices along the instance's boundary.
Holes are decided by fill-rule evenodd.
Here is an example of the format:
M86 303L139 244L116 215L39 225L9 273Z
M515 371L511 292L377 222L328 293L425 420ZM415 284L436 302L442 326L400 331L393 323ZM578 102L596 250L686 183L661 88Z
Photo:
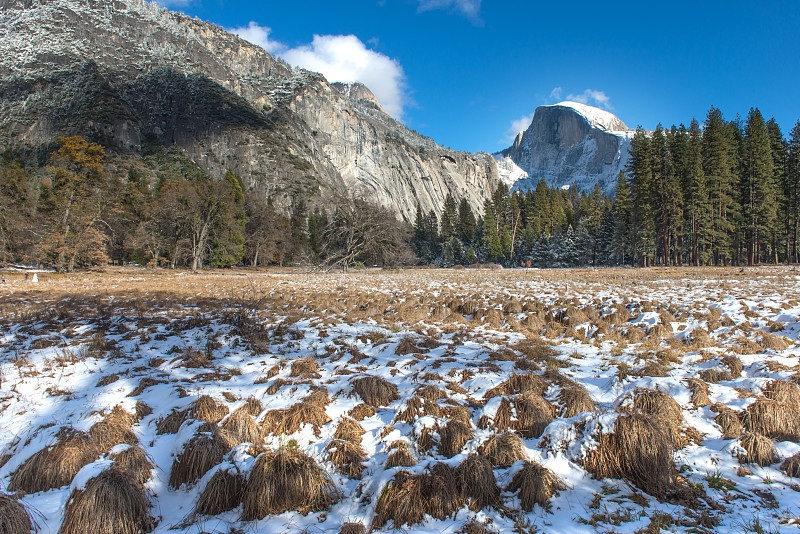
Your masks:
M652 495L662 495L674 484L672 442L653 416L620 415L614 431L598 442L584 465L598 478L624 478Z

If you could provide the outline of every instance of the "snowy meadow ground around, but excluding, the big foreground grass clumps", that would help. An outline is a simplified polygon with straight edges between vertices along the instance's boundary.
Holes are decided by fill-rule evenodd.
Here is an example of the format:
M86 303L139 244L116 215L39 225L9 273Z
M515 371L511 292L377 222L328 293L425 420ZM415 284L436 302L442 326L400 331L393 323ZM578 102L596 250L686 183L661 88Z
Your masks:
M740 435L755 431L746 417L754 403L792 407L800 400L770 396L775 381L793 387L800 377L798 282L794 269L766 267L119 271L43 274L36 286L11 274L0 288L0 491L9 492L15 471L54 444L62 427L88 432L119 406L130 414L138 407L130 428L154 464L145 488L155 532L334 533L345 522L369 527L381 491L399 471L421 474L437 462L457 467L505 431L519 434L525 457L550 469L566 489L548 506L526 512L518 493L507 489L524 462L497 466L503 492L496 506L460 506L403 530L459 532L474 520L494 532L795 532L800 480L781 465L800 453L800 418L779 421L785 432L772 439L779 459L764 466L743 457ZM505 387L514 374L536 375L543 386L527 393ZM364 410L353 384L365 376L396 385L399 398ZM693 396L690 378L697 379L693 387L702 382L699 387L707 388L707 401ZM561 392L572 387L586 391L594 409L567 417ZM272 410L321 390L327 398L316 426L302 424L287 434L270 424L286 413ZM642 484L586 470L601 437L620 414L635 411L632 399L643 390L666 393L680 407L671 482L679 491L650 494ZM543 429L523 421L517 404L523 394L544 399L537 405L547 412ZM234 446L196 483L172 488L176 457L193 436L209 432L191 411L203 395L226 413L256 399L261 406L252 420L266 435L261 443ZM414 398L424 399L421 407ZM144 405L152 413L144 415ZM410 406L418 407L412 415ZM509 406L511 417L502 421L498 413ZM718 424L723 408L746 423L735 436L724 436ZM167 416L187 409L176 432L159 432ZM457 413L467 414L461 420L469 433L446 456L442 429ZM360 479L342 475L326 450L348 414L365 431ZM407 444L415 465L385 468L398 442ZM99 452L70 485L19 493L39 532L58 531L71 492L128 446ZM325 469L341 492L335 503L255 521L241 520L241 505L214 516L192 513L217 471L249 476L260 454L285 447ZM395 526L390 520L375 531Z

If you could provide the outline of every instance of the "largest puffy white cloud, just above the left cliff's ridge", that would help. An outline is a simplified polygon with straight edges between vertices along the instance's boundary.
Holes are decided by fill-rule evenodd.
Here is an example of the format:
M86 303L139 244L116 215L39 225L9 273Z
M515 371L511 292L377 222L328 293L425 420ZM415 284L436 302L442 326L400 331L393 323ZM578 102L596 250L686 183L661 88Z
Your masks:
M403 67L397 60L367 48L355 35L315 35L310 44L290 48L270 40L270 28L256 22L229 31L295 67L322 73L330 82L361 82L390 115L403 117L408 103Z

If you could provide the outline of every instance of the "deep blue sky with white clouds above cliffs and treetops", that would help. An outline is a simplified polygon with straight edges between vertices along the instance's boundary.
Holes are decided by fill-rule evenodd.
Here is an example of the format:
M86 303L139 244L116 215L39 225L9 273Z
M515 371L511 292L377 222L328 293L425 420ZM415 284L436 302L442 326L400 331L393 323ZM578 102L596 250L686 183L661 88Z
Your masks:
M758 107L784 135L800 119L796 0L160 3L330 81L362 81L460 150L505 148L537 106L566 99L648 129L702 122L711 105L731 119Z

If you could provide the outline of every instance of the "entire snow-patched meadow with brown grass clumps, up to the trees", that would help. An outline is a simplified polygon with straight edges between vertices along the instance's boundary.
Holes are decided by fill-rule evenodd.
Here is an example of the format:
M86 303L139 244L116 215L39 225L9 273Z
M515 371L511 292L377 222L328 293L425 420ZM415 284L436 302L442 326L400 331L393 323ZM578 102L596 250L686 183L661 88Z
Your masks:
M7 278L3 532L800 528L794 268Z

